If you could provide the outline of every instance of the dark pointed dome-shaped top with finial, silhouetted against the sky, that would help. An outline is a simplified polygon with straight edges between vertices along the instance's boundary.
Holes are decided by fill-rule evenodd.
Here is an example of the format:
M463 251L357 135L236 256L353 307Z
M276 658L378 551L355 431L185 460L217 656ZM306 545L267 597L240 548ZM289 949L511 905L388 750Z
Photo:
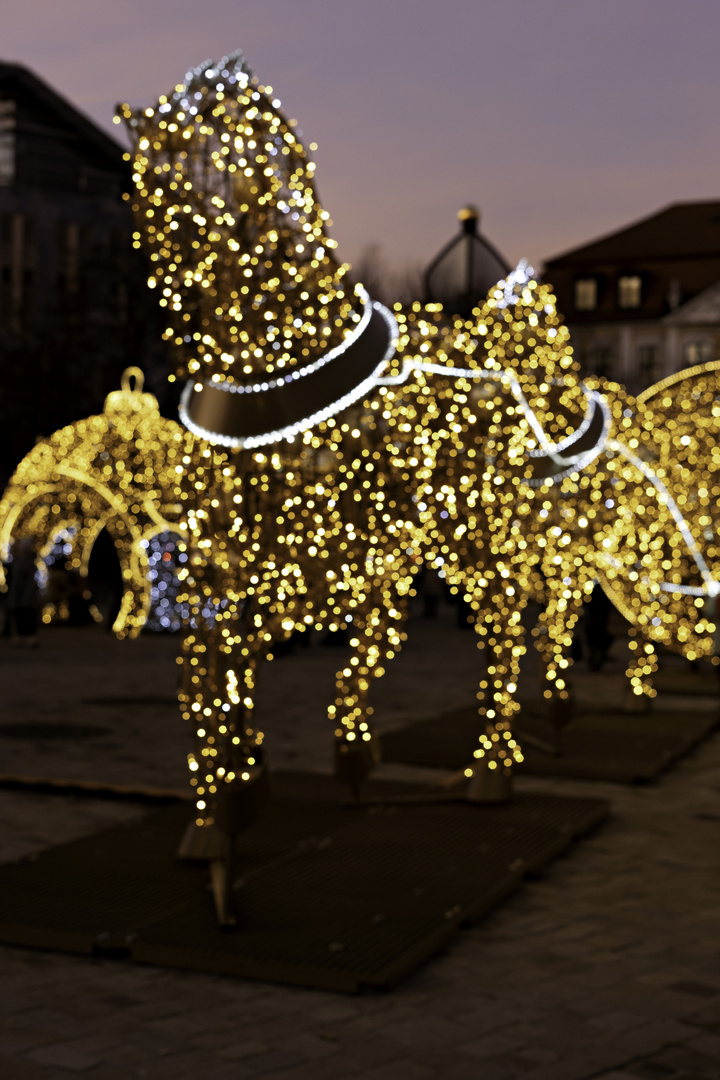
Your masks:
M463 206L458 219L460 233L425 271L425 299L467 318L495 282L510 273L511 266L478 232L479 213L475 206Z

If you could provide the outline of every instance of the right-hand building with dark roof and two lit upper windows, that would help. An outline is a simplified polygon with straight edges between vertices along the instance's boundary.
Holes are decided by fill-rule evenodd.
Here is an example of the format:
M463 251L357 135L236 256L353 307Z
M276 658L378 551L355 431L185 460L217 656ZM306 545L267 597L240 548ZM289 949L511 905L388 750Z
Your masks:
M587 374L638 392L720 357L720 201L677 203L548 259Z

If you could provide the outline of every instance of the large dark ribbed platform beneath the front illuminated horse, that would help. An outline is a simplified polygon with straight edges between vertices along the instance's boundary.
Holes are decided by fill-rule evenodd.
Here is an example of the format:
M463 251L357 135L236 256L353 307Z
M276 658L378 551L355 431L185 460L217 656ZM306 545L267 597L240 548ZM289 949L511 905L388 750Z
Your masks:
M232 932L216 923L207 864L176 856L190 812L176 805L0 866L0 941L334 990L389 987L608 813L601 799L519 794L477 806L389 782L367 795L353 805L331 778L273 778L268 812L239 840Z

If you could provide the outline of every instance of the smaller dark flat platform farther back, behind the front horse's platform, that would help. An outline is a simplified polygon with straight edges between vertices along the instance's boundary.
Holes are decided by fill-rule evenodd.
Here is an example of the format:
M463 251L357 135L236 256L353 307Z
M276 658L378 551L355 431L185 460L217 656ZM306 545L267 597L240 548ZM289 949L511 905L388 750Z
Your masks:
M573 777L627 784L653 780L709 734L719 719L715 711L580 712L578 719L560 732L559 753L553 754L536 748L530 740L547 744L552 750L555 732L526 708L516 724L525 755L517 772L518 775ZM479 731L475 706L468 705L383 735L382 758L407 765L461 769L472 761ZM530 739L524 741L524 732Z

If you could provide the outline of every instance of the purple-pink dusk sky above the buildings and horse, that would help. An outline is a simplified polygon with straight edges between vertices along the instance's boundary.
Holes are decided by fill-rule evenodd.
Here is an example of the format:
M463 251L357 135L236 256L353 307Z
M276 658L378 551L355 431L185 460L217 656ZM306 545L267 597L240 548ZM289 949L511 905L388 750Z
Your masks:
M242 49L307 143L340 256L424 265L465 202L536 265L720 194L720 0L23 0L0 52L119 134Z

